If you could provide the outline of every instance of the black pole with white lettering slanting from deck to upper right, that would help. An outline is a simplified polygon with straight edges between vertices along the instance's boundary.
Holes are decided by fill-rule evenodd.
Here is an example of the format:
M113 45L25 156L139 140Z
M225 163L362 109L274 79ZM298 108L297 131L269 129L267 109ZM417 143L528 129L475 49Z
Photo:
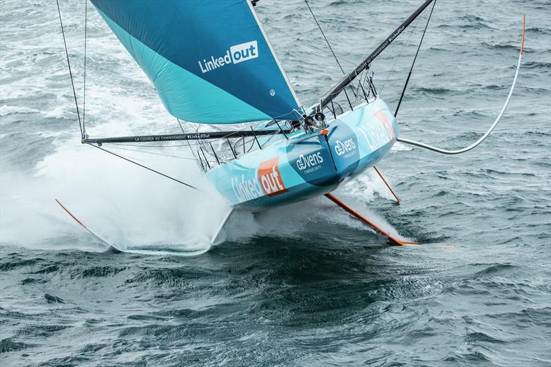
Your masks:
M352 81L356 78L356 76L358 76L361 72L366 70L369 67L369 65L371 65L371 62L373 62L373 60L375 60L375 58L379 56L381 52L383 52L383 50L387 48L388 45L390 45L396 39L397 36L402 34L402 32L404 32L404 30L408 27L408 25L410 25L417 17L419 17L419 14L421 14L423 10L425 10L425 8L432 2L433 0L426 0L423 3L423 5L419 6L419 8L417 8L417 10L415 10L415 12L413 12L413 14L411 14L408 17L408 19L402 22L402 24L400 24L399 27L394 30L394 32L392 32L388 37L386 37L386 39L382 41L382 43L378 45L377 48L375 48L375 50L371 52L371 54L369 54L369 56L367 56L366 59L362 61L362 63L360 63L360 65L358 65L350 74L344 76L342 81L340 81L340 83L336 85L325 98L321 99L320 110L323 109L323 107L325 107L329 103L331 103L331 101L333 101L333 98L335 98L337 94L339 94L342 90L344 90L344 88L347 85L352 83Z

